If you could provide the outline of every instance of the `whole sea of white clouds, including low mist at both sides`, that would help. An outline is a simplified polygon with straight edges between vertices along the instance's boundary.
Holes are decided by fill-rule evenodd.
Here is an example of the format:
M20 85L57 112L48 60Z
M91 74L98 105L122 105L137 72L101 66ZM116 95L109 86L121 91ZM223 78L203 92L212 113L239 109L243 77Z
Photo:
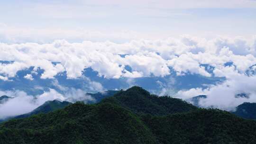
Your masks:
M66 40L51 43L0 43L0 60L11 62L0 63L1 81L11 81L18 71L30 67L34 67L32 73L37 72L38 68L44 70L41 79L55 79L60 72L66 72L68 79L77 79L82 77L86 68L98 72L98 76L105 79L165 77L173 69L178 76L190 73L226 79L224 82L208 85L206 89L199 87L180 90L176 94L179 98L188 99L205 94L208 98L200 101L202 107L213 106L224 110L234 110L245 101L256 102L256 36L219 36L212 39L180 36L158 40L131 40L125 43L70 43ZM226 63L232 64L225 65ZM214 67L213 71L208 72L202 64ZM126 66L131 71L125 69ZM24 78L30 81L34 79L31 74ZM100 83L91 81L91 84L99 90L104 89ZM60 86L59 89L61 88ZM0 115L6 114L9 108L12 110L8 111L8 116L26 113L46 100L64 100L84 93L76 89L69 92L72 91L71 88L63 90L66 91L64 94L55 90L47 91L36 96L36 101L22 91L2 91L2 94L13 92L9 95L17 98L0 106ZM235 98L239 93L247 93L249 97Z

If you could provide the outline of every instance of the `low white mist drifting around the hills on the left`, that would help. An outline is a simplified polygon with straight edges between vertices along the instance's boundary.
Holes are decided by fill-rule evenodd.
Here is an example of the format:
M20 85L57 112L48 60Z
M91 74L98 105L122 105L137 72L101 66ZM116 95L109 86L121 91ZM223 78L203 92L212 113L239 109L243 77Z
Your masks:
M27 95L26 92L20 90L0 91L0 96L2 95L14 98L0 104L0 119L31 112L48 100L84 101L85 103L95 101L90 95L86 95L85 91L74 88L65 88L64 94L60 94L54 89L49 89L49 91L45 91L43 94L37 96Z

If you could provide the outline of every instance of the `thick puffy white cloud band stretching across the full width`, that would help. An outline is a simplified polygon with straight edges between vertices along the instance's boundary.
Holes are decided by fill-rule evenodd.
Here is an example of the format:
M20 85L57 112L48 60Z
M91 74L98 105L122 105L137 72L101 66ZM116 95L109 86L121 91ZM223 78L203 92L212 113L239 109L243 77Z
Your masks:
M180 39L133 40L122 44L109 41L69 43L65 40L49 44L0 43L0 59L14 61L1 63L0 74L14 77L19 70L34 66L44 70L42 79L53 79L59 72L67 72L68 78L78 78L85 68L91 67L100 77L119 79L151 75L163 77L170 74L169 67L172 67L178 75L191 72L210 77L211 74L201 64L219 69L227 62L233 62L238 71L244 72L256 63L256 40L255 37L252 40L238 38L206 40L182 36ZM125 65L132 71L126 71Z

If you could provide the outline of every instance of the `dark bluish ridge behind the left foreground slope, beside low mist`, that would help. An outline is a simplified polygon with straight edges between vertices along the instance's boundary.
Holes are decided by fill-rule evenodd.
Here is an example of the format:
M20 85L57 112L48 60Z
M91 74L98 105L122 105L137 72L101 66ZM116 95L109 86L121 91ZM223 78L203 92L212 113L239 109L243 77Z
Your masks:
M64 108L68 105L72 104L71 102L68 101L59 101L59 100L53 100L53 101L46 101L43 105L39 106L38 108L34 109L33 111L27 113L27 114L23 114L23 115L19 115L17 117L14 118L23 118L23 117L29 117L35 114L39 114L39 113L48 113L57 109L61 109Z

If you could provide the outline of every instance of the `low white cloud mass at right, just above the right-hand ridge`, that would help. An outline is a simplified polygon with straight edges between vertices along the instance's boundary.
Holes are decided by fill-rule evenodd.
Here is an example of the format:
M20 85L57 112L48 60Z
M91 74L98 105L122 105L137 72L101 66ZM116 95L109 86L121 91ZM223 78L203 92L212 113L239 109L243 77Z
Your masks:
M183 99L207 95L207 99L200 100L201 107L214 107L228 111L235 110L244 102L256 102L256 75L247 76L244 73L236 72L232 66L229 68L224 72L227 80L223 83L211 85L207 89L180 90L177 94ZM236 97L239 94L247 94L248 97Z

